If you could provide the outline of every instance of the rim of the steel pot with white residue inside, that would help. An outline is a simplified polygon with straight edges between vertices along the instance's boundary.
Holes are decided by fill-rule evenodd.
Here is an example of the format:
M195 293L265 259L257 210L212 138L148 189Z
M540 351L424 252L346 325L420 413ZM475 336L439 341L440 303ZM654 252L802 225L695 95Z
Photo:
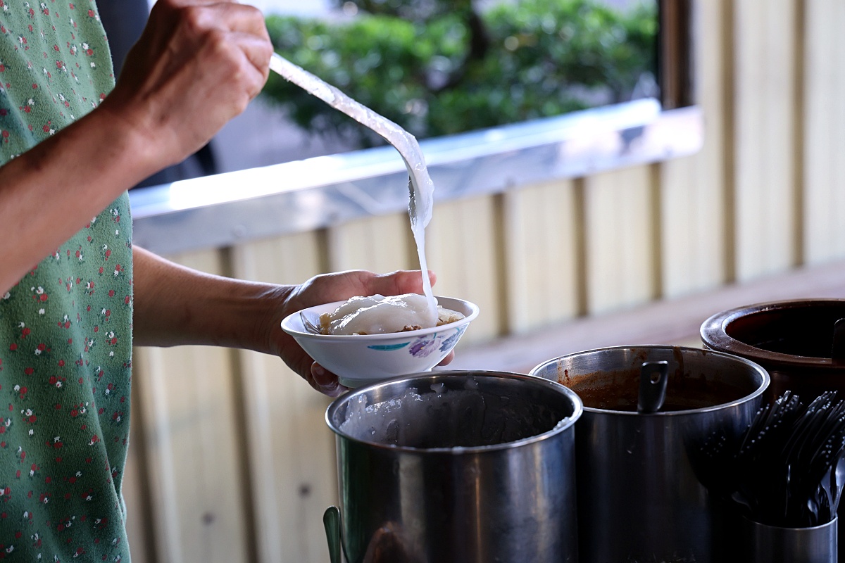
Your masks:
M424 384L433 385L439 382L439 380L446 379L449 377L454 376L481 376L483 377L499 377L504 379L515 379L515 380L523 380L532 385L537 385L540 387L548 387L555 392L558 392L562 395L565 395L566 398L569 398L572 403L572 414L568 416L566 419L560 420L557 425L551 430L547 430L536 436L528 436L527 438L522 438L521 440L515 441L506 441L500 444L491 444L488 446L470 446L470 447L411 447L411 446L394 446L390 444L383 444L380 442L375 441L367 441L357 438L355 436L350 436L348 433L344 432L332 423L332 419L334 418L334 414L338 409L341 408L341 404L349 403L354 400L355 397L362 395L364 392L368 392L368 390L377 388L377 387L387 387L391 384L395 384L396 382L403 382L403 381L421 381ZM427 381L428 380L428 381ZM346 393L345 395L341 395L341 397L336 398L329 407L325 410L325 423L329 426L330 430L335 432L335 435L341 438L344 438L349 441L356 442L358 444L363 444L368 447L374 447L377 449L384 450L386 452L408 452L408 453L439 453L439 454L450 454L450 455L466 455L466 454L478 454L478 453L487 453L487 452L499 452L501 450L508 450L515 447L525 447L529 444L537 443L539 441L546 441L551 439L553 436L557 436L563 433L565 430L570 430L575 425L575 422L581 418L581 414L584 413L584 404L581 402L581 398L572 391L569 387L565 387L558 382L552 382L548 379L544 379L538 376L531 376L526 375L524 373L516 373L514 371L493 371L493 370L444 370L444 371L426 371L422 373L412 373L405 376L397 376L392 377L390 379L385 379L382 382L371 383L365 387L358 387L357 389L352 390L351 392Z

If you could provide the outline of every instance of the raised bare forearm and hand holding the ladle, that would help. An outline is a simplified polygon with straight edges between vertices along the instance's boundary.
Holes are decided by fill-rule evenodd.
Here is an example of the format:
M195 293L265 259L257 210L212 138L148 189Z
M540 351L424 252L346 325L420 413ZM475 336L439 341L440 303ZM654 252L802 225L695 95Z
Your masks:
M106 100L0 168L0 295L120 193L243 111L271 52L255 8L159 0Z

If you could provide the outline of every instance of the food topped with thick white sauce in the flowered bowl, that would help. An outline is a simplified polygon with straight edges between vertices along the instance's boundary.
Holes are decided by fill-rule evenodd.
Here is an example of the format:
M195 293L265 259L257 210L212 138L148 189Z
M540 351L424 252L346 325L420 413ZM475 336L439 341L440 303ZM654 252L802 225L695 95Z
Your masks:
M460 321L460 311L438 306L431 311L425 295L370 295L352 297L335 311L319 316L321 334L385 334L403 333L421 328L439 327Z

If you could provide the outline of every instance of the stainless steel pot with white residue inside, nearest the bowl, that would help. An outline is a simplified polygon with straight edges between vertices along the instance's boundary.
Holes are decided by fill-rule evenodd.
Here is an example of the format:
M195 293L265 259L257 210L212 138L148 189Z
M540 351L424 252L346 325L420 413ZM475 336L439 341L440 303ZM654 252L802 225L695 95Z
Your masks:
M513 373L439 371L362 387L326 411L352 563L544 563L577 555L581 401Z

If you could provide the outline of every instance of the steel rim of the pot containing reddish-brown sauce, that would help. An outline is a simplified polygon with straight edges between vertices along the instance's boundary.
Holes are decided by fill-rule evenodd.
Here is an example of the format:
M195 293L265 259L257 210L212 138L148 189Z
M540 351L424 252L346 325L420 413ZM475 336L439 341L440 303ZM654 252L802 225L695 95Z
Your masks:
M666 411L658 411L657 413L638 413L638 412L630 411L630 410L596 409L595 407L586 407L585 406L584 407L585 413L602 414L602 415L608 415L608 414L617 415L618 414L620 416L638 416L638 417L648 417L648 418L651 418L651 417L667 417L667 416L679 417L679 416L690 416L690 415L696 415L696 414L705 414L705 413L711 413L711 412L722 410L722 409L730 409L730 408L736 407L740 404L748 403L749 401L751 401L751 400L753 400L757 397L760 397L760 395L762 395L764 392L766 392L766 389L769 387L769 384L771 383L771 376L769 376L769 372L766 371L766 369L762 365L757 364L756 362L754 362L752 360L748 360L747 358L743 358L739 355L727 354L727 353L724 353L724 352L720 352L719 350L693 348L691 346L671 346L671 345L668 345L668 344L630 344L630 345L624 345L624 346L608 346L607 348L595 348L595 349L589 349L589 350L582 350L581 352L575 352L573 354L558 356L557 358L553 358L552 360L546 360L546 361L542 362L541 364L537 364L536 366L534 366L532 368L532 371L530 371L530 374L532 376L535 376L534 374L538 370L540 370L542 367L545 367L546 365L550 365L550 364L553 364L553 363L558 363L559 360L564 360L564 359L572 358L572 357L579 356L579 355L592 354L592 353L595 353L595 352L611 352L613 350L630 350L630 349L672 349L672 350L679 350L681 352L690 351L693 354L716 355L716 356L719 356L719 357L722 357L722 358L725 358L725 359L728 359L728 360L737 361L741 364L747 365L753 371L756 371L758 374L760 374L760 376L762 376L762 382L760 382L760 385L753 392L750 392L750 394L745 395L742 398L738 398L735 401L731 401L729 403L719 403L719 404L714 404L710 407L702 407L701 409L666 410ZM536 377L540 377L540 376L536 376ZM545 379L545 378L543 378L543 379ZM547 380L547 381L551 381L551 380ZM567 388L569 388L569 387L567 387Z

